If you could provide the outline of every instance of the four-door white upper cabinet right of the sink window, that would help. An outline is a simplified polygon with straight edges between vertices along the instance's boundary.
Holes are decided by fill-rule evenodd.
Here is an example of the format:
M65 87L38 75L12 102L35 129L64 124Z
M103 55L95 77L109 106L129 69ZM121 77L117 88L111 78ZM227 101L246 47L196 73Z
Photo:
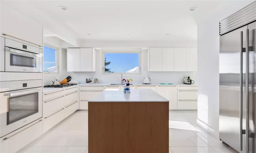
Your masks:
M196 48L150 48L148 71L197 71Z

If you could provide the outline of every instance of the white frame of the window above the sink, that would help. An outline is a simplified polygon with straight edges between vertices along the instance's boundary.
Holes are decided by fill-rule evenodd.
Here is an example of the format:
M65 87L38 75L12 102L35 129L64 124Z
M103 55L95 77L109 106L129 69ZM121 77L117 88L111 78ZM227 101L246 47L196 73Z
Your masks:
M103 75L120 75L120 72L114 72L114 73L105 73L105 53L139 53L139 73L123 73L124 75L141 75L141 50L136 51L122 51L122 50L111 50L111 51L102 51L102 74Z

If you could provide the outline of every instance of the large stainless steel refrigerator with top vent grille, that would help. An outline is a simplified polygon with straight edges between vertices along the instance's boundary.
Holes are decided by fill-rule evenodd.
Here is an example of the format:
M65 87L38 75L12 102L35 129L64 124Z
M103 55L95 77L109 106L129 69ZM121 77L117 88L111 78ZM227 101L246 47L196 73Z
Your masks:
M219 138L240 153L256 153L255 9L256 2L219 29Z

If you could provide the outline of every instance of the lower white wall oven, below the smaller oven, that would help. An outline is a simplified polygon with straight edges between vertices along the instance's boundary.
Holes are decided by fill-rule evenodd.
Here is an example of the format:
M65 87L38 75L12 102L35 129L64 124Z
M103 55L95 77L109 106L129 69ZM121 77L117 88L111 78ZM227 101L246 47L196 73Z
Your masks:
M0 137L42 118L42 80L0 82Z

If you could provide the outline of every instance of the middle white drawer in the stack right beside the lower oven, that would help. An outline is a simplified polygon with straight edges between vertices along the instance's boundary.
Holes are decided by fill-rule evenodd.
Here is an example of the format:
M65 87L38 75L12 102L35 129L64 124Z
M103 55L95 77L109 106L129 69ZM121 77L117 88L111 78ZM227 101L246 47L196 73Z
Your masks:
M43 117L47 117L65 106L64 95L43 101Z

